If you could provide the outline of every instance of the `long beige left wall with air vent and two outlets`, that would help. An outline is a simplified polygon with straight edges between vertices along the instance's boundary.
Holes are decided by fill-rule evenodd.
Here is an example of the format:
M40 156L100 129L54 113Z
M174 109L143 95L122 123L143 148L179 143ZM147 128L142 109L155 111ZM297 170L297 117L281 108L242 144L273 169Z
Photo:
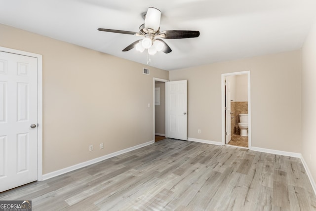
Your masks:
M43 174L153 140L153 77L167 71L144 75L142 64L5 25L0 46L43 55Z

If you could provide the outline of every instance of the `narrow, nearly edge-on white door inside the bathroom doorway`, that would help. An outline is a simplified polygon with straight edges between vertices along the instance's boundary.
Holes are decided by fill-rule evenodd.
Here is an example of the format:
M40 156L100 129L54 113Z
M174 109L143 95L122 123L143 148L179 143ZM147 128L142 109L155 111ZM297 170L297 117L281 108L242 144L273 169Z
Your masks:
M225 80L225 117L226 117L226 144L232 139L231 134L231 83L228 77Z

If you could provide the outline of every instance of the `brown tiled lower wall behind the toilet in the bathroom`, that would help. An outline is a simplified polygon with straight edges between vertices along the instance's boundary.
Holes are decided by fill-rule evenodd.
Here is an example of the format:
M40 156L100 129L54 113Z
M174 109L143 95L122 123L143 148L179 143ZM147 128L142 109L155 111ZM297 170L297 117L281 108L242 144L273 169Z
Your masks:
M240 129L238 127L239 114L248 114L248 102L231 102L231 117L234 117L231 120L231 131L232 134L240 134Z

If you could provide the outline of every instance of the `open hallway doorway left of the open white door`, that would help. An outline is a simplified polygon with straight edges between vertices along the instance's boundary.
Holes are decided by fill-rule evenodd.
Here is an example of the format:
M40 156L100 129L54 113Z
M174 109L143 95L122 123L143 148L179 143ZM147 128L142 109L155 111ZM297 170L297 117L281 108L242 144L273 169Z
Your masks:
M165 139L165 82L154 78L154 140Z

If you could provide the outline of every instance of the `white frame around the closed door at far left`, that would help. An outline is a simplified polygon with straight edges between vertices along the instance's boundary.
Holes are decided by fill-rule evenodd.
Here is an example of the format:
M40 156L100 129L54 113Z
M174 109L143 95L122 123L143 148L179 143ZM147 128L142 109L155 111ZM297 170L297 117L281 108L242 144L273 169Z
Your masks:
M30 53L26 51L11 49L0 46L0 51L7 53L14 53L23 56L30 56L37 58L37 68L38 68L38 180L42 180L42 137L43 137L43 121L42 121L42 55L36 53Z

